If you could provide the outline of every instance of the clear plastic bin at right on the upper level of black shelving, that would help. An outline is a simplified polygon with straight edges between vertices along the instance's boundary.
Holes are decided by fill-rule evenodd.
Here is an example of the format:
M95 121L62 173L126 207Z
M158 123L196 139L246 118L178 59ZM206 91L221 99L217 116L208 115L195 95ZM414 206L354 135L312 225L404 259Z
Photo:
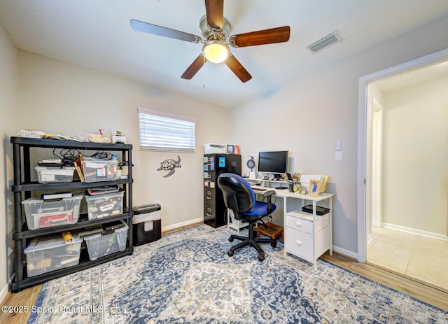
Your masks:
M117 178L117 160L85 160L83 157L85 182L115 181Z

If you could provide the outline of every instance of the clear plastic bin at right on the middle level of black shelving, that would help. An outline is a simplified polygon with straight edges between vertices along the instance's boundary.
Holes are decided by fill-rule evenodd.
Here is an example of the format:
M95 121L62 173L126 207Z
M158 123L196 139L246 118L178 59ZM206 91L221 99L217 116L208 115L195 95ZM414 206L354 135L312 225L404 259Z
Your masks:
M85 196L87 217L89 220L106 218L123 213L124 192L112 192L105 195Z

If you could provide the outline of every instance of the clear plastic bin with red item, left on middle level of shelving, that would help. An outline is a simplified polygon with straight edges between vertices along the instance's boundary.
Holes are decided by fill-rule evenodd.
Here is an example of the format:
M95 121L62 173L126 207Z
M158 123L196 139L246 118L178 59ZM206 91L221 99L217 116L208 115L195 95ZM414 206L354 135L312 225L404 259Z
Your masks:
M29 198L22 201L28 230L78 222L79 206L83 194L58 200Z

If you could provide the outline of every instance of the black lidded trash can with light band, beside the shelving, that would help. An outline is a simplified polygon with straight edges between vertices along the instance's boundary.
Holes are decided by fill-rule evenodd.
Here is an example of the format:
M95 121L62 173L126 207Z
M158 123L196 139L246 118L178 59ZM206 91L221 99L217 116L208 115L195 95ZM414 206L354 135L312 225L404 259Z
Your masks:
M132 241L134 246L157 241L162 237L162 211L160 204L132 208Z

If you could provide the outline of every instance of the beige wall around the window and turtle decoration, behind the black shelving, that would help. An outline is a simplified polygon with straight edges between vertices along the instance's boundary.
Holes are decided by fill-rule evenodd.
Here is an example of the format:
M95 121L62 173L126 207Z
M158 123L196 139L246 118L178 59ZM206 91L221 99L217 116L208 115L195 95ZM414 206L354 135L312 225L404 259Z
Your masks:
M134 146L134 206L161 204L162 227L202 219L203 144L227 143L228 109L22 50L19 66L21 127L71 135L121 130ZM197 118L196 153L140 151L137 107ZM163 178L160 162L177 155L181 169Z

